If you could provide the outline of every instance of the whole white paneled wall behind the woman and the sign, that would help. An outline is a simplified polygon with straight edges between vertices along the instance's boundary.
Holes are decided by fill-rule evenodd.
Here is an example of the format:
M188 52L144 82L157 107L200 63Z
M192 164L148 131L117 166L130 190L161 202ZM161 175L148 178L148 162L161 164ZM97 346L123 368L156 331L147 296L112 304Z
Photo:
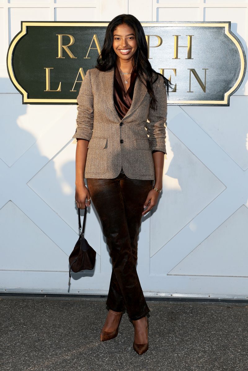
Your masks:
M3 292L68 293L68 256L78 238L76 106L22 105L7 75L9 43L21 20L110 21L122 13L141 22L231 21L247 50L245 0L0 0ZM229 107L168 106L163 191L138 241L145 295L248 298L247 80ZM85 235L96 267L74 274L70 293L106 294L110 257L93 204Z

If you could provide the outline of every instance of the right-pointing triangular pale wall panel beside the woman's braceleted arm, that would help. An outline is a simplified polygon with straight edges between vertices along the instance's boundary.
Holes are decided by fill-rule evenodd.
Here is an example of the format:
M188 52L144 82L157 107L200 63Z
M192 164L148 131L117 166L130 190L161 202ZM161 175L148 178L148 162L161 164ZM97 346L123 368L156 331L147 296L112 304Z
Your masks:
M168 128L166 144L162 199L151 215L150 257L225 190L225 185Z

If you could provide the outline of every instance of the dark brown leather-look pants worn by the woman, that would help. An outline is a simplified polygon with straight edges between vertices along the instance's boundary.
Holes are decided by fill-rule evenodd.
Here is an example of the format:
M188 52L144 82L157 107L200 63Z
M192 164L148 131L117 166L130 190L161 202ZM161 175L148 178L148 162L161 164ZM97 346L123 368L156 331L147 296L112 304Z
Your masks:
M142 211L153 183L153 180L130 179L123 170L113 179L87 178L113 265L107 309L121 312L126 308L131 320L142 318L150 311L136 262Z

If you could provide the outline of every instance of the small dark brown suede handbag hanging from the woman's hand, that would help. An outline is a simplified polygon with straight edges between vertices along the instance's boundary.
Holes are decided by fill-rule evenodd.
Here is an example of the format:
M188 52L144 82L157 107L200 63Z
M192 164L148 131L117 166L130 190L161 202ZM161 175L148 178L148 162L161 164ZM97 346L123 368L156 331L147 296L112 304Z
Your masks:
M81 270L85 269L93 269L96 262L96 252L91 247L87 240L84 238L84 227L86 222L86 213L87 213L87 206L84 209L84 220L83 220L83 230L81 227L81 219L80 219L80 209L78 208L78 228L80 230L79 238L75 244L71 255L69 256L69 282L68 286L70 286L71 280L71 270L74 273L80 272Z

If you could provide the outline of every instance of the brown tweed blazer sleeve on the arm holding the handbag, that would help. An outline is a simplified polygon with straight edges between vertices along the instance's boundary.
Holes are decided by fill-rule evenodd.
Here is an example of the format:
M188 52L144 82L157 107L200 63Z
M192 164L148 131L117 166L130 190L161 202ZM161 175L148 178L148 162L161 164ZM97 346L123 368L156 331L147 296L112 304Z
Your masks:
M93 101L90 70L87 70L77 96L77 128L72 138L90 140L94 122Z

